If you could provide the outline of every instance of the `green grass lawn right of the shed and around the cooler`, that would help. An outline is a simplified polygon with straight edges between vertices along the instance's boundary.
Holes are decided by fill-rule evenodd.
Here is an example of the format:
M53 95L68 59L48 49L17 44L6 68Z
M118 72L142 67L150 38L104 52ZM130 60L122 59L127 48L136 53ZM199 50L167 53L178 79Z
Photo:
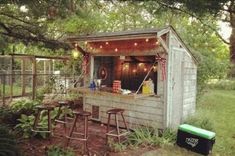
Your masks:
M216 132L213 156L235 155L235 90L209 90L198 100L197 113L208 118ZM197 156L177 146L163 147L143 156Z

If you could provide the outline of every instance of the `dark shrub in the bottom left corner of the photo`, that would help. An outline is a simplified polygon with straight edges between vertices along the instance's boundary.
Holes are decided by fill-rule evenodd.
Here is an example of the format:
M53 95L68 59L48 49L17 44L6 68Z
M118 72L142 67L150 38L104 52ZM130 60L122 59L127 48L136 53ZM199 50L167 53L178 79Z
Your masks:
M8 127L0 125L0 155L20 156L15 136Z

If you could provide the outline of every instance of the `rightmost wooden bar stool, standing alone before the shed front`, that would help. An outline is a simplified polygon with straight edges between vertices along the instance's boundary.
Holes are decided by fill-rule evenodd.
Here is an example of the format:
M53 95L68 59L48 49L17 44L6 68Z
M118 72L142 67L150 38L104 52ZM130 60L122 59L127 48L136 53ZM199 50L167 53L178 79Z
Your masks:
M116 109L110 109L107 111L107 114L108 114L108 123L107 123L107 129L106 129L106 143L108 143L108 136L113 136L113 137L117 137L118 138L118 142L120 143L120 137L121 136L125 136L129 133L129 129L127 128L127 125L126 125L126 121L125 121L125 118L123 116L123 112L124 112L124 109L119 109L119 108L116 108ZM115 117L115 124L116 124L116 130L109 130L109 127L110 127L110 120L111 120L111 115L114 115ZM123 130L121 131L119 129L119 122L118 122L118 115L121 115L122 116L122 120L123 120L123 123L124 123L124 126L125 126L125 129L126 130Z

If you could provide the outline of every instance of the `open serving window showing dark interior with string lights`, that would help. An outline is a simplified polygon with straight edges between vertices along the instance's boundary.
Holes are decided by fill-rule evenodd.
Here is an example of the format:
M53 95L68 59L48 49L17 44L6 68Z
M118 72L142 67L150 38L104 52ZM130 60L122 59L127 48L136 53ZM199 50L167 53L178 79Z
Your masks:
M112 88L113 81L120 80L122 89L135 93L151 70L145 80L152 81L157 94L157 67L155 56L95 56L93 77L101 79L104 88Z

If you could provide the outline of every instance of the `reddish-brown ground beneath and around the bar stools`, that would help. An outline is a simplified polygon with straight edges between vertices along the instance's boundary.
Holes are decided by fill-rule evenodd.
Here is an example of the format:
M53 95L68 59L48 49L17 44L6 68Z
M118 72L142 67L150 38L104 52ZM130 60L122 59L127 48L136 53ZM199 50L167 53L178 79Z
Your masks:
M78 123L79 124L79 123ZM83 127L78 126L77 130L82 131ZM138 156L149 151L147 148L139 148L135 150L125 150L115 153L110 151L110 148L105 144L106 126L89 121L89 138L88 149L91 156ZM61 124L56 125L54 135L48 139L25 139L20 142L25 156L44 156L46 150L52 145L65 147L64 129ZM78 140L71 140L69 148L72 148L77 156L83 155L83 143Z

